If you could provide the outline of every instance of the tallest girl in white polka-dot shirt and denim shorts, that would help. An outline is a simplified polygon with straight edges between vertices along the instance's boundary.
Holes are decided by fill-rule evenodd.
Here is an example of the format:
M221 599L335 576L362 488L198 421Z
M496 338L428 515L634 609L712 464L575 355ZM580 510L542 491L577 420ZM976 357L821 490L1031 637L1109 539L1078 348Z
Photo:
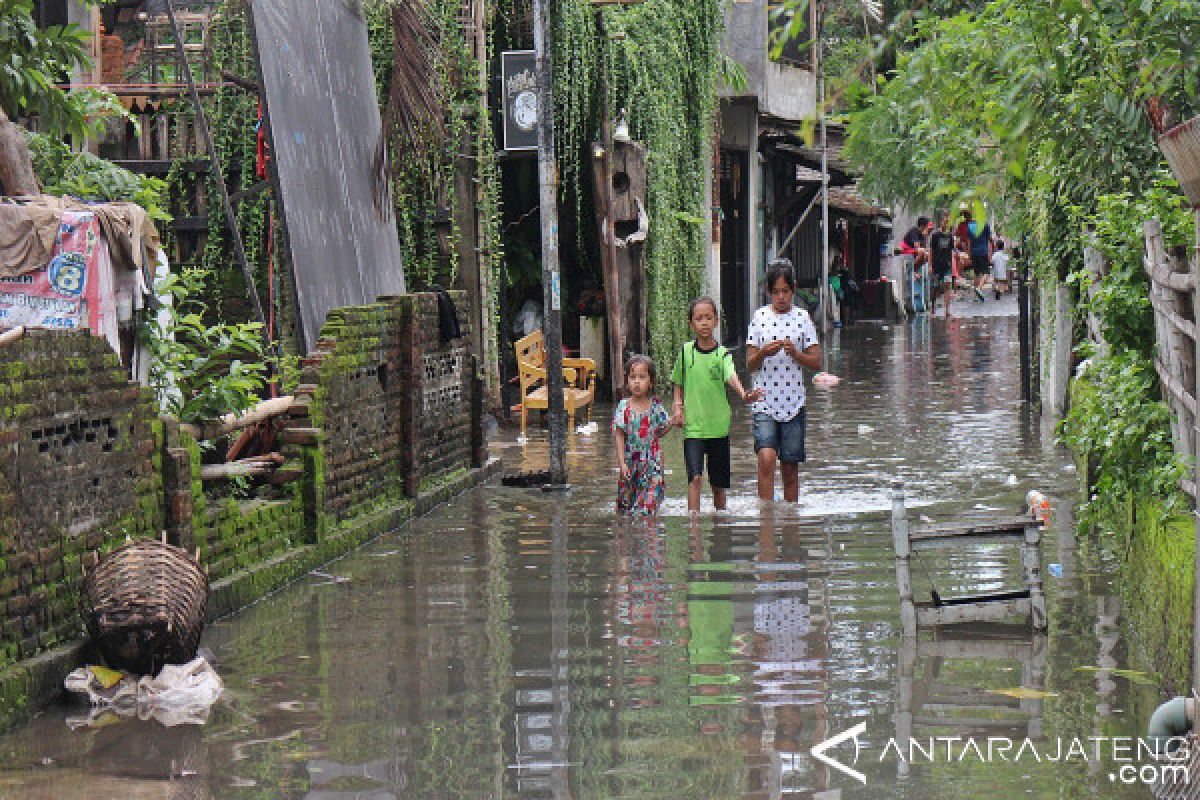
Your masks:
M754 404L754 449L758 456L758 498L775 497L775 465L784 477L784 499L799 499L800 462L805 459L804 367L821 368L821 345L809 312L793 305L792 263L776 259L767 269L770 303L755 312L746 333L746 367L763 399Z

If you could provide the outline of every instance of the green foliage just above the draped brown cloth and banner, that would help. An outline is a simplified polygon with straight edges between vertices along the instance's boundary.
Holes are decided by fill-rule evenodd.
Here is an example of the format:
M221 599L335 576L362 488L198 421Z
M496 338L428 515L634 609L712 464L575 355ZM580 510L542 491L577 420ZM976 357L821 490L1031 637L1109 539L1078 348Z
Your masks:
M131 173L90 152L76 152L62 142L40 133L29 134L34 172L47 194L70 194L80 200L128 200L145 209L151 218L167 222L167 182Z

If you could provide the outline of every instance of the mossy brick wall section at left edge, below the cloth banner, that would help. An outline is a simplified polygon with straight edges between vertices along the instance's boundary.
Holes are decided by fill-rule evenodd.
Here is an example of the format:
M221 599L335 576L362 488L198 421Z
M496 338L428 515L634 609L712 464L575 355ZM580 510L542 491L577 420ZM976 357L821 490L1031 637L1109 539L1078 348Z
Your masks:
M164 523L162 423L107 342L0 348L0 667L82 632L83 564Z

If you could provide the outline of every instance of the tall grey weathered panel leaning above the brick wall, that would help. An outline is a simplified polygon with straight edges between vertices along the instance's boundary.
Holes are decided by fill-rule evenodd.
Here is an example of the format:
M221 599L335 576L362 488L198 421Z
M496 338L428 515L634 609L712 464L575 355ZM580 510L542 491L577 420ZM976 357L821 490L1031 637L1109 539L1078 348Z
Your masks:
M404 291L359 0L251 0L271 158L304 332Z

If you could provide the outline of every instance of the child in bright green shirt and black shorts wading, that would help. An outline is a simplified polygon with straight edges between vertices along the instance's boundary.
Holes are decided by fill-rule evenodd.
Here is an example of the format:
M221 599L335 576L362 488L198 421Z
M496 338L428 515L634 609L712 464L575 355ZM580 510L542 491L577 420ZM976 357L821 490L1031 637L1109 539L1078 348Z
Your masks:
M716 343L713 331L720 315L712 297L694 300L688 323L696 339L683 345L671 381L674 384L674 423L683 426L683 452L688 462L688 510L700 511L700 488L708 459L713 505L725 509L730 488L730 401L732 386L746 403L762 399L762 390L748 392L733 371L733 354Z

